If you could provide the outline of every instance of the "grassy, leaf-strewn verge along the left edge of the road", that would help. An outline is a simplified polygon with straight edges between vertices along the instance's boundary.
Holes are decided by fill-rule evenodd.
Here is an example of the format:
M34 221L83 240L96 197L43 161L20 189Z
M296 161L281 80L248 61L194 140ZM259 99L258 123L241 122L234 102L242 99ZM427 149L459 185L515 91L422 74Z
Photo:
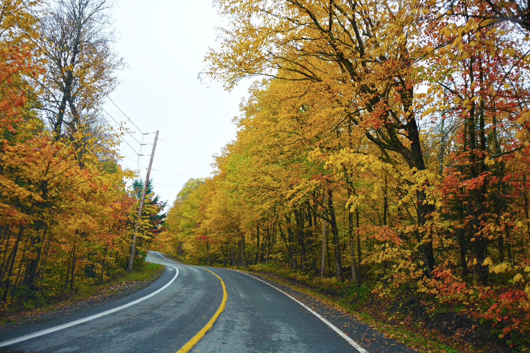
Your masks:
M0 311L0 326L4 323L27 321L29 318L32 318L30 320L38 320L41 316L42 318L49 316L48 319L54 319L55 317L52 316L61 315L51 315L51 312L65 311L66 314L69 314L70 312L65 309L69 306L77 306L79 310L82 310L83 306L90 307L90 305L97 305L100 302L129 295L154 282L155 279L162 275L164 268L164 265L143 263L132 273L126 272L121 276L110 279L109 282L93 286L81 284L74 293L61 298L60 301L48 303L32 310Z

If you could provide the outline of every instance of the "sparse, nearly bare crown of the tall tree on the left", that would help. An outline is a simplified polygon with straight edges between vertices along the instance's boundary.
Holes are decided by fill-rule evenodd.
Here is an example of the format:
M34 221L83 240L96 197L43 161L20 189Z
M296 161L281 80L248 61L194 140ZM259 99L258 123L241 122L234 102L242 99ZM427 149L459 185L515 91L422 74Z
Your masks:
M95 111L116 87L123 65L113 49L112 6L109 0L61 0L42 10L40 109L56 138L102 123Z

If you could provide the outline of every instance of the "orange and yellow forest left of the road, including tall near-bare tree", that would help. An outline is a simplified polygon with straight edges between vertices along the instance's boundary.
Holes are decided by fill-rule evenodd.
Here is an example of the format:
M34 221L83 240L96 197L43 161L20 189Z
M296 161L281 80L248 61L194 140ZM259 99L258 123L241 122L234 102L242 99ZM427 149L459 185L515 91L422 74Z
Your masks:
M105 0L0 0L0 310L125 273L144 185L100 105L124 62ZM129 186L127 186L129 182ZM130 186L132 183L132 186ZM135 263L165 203L147 190Z

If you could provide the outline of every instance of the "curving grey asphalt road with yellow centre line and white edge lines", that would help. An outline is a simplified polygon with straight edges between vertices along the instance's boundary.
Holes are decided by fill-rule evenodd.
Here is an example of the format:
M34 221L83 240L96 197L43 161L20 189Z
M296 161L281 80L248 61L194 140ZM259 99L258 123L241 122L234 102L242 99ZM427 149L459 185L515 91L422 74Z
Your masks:
M0 352L414 351L285 286L234 270L175 263L153 251L146 260L166 266L151 286L92 309L3 332ZM48 333L41 334L43 330Z

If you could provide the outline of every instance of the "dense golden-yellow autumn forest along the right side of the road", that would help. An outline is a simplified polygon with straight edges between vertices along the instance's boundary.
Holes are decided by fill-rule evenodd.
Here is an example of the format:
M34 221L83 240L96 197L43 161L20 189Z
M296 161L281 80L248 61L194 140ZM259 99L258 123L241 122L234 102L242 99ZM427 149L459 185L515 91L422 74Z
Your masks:
M227 24L201 77L255 81L215 173L181 189L157 246L451 311L526 351L528 4L215 6Z

